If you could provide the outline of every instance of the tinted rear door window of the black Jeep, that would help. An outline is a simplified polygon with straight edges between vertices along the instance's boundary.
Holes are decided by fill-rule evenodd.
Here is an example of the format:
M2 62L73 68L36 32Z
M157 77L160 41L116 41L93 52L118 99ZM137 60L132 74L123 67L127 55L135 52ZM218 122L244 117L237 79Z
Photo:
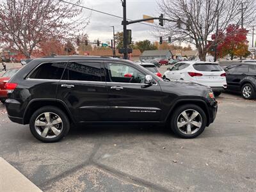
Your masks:
M62 79L70 81L102 81L100 63L68 63Z

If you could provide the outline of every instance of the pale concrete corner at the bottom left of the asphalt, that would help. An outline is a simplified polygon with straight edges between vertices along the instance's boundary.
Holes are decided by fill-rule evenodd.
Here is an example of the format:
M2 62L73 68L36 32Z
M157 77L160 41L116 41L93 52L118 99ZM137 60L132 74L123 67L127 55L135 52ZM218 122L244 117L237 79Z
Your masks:
M22 173L0 157L0 191L42 192Z

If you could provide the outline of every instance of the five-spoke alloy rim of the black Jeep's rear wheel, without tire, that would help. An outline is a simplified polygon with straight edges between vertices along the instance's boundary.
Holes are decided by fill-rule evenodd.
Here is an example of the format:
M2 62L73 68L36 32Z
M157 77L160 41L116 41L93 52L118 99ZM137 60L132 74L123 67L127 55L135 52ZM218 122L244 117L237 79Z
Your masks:
M63 122L56 113L45 112L36 118L35 129L42 138L52 139L63 131Z

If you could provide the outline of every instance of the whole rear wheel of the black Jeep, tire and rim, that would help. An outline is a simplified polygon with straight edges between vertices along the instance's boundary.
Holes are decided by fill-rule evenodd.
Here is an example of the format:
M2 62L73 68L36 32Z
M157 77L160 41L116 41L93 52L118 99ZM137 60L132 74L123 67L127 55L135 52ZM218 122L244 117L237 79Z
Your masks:
M52 143L60 141L68 133L70 122L61 109L45 106L33 113L29 127L36 139L45 143Z

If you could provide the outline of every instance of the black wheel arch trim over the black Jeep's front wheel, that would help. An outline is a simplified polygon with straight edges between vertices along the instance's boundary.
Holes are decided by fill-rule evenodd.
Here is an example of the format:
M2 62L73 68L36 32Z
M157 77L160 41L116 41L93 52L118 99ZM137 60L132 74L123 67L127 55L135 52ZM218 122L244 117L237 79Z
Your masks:
M173 104L172 108L170 109L170 111L168 113L168 116L166 116L165 122L170 120L173 111L175 111L180 106L183 106L183 105L186 105L186 104L195 104L196 106L199 106L200 108L202 108L202 110L204 111L204 113L207 117L206 125L209 126L209 124L210 124L210 113L209 113L209 110L207 108L207 104L204 102L204 100L200 100L200 99L181 99L181 100L177 100Z

